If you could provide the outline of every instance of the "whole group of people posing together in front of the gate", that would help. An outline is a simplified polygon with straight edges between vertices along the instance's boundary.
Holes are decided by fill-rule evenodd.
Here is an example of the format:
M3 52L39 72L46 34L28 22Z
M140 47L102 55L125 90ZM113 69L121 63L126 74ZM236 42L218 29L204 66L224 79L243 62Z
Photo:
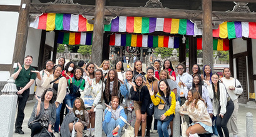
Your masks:
M24 65L18 63L12 75L19 97L15 133L24 134L24 108L29 88L36 80L37 101L28 121L31 136L71 136L75 131L76 136L95 136L97 104L105 109L103 131L107 136L121 136L125 123L134 127L135 136L150 136L152 131L172 136L178 104L180 114L190 124L187 136L238 134L237 98L243 89L230 76L229 68L223 69L220 78L208 65L203 67L203 74L197 64L193 65L190 75L181 63L176 74L168 59L163 67L160 60L155 60L146 73L140 60L126 71L122 61L110 68L108 60L100 66L84 61L76 65L73 61L65 63L63 57L58 64L46 61L45 68L36 71L32 61L32 56L26 56Z

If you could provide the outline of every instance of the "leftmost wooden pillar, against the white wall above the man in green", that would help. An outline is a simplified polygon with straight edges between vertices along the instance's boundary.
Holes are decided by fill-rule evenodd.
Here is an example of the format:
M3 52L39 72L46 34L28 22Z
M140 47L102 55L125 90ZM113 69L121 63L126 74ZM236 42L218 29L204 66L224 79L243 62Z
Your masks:
M24 9L22 8L23 4L26 4ZM12 64L18 62L20 64L24 63L29 28L29 4L30 0L21 0ZM12 74L13 71L14 69L11 67L10 73Z

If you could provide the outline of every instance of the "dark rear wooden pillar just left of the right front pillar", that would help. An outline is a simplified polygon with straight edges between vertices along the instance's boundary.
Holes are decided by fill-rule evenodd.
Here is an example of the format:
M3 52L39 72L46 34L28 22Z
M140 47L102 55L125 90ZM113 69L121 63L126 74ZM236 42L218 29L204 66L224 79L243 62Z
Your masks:
M197 38L193 36L189 36L188 59L189 73L192 74L192 67L194 64L197 64Z

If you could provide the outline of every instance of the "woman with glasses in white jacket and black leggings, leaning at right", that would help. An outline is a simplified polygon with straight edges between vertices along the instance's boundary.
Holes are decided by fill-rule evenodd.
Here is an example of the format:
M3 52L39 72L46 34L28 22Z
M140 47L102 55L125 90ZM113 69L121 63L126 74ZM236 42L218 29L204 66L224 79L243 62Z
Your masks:
M213 104L213 116L216 116L216 126L218 134L223 137L222 129L225 136L229 136L227 123L233 113L234 104L227 94L227 90L223 83L218 81L220 77L217 73L212 75L212 84L207 81L207 89Z

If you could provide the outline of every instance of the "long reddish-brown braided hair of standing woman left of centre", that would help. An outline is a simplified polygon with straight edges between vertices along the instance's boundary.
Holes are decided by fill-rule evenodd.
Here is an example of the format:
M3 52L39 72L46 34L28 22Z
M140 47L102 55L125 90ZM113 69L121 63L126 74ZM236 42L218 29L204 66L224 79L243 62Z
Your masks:
M114 83L113 83L113 89L112 89L112 96L118 96L118 74L116 69L110 69L108 71L107 79L106 79L106 88L105 88L105 94L103 96L106 96L107 101L110 98L110 72L114 71L115 77L114 77ZM103 97L102 96L102 97Z

